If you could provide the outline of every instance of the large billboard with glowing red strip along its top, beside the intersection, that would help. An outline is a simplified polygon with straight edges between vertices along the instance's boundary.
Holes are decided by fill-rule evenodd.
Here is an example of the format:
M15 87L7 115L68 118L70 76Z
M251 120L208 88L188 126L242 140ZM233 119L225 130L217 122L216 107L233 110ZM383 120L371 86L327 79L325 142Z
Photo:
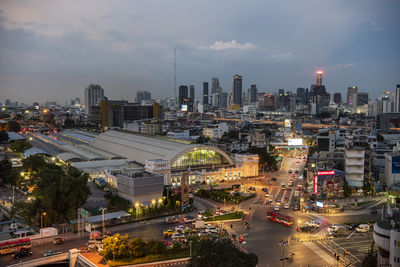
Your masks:
M319 194L326 196L340 195L343 189L344 172L338 170L319 171L318 176L318 191Z

